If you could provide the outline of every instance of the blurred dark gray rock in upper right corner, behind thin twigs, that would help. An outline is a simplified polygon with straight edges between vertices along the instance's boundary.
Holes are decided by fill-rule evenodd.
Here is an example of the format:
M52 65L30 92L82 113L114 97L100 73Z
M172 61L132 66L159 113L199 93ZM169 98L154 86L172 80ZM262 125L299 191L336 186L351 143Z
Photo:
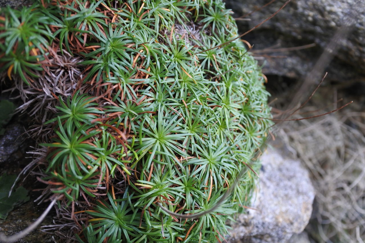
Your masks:
M232 8L235 16L241 16L257 9L269 0L228 0L227 8ZM265 8L238 21L241 32L254 27L277 11L285 0L277 0ZM333 38L336 30L350 23L353 30L346 39L339 42L339 50L326 69L327 81L365 81L365 1L362 0L296 0L291 1L274 18L246 35L255 47L253 51L265 48L302 46L315 43L300 51L266 52L258 55L280 55L286 58L266 58L264 73L302 78L315 65L319 55ZM273 47L275 46L276 47Z

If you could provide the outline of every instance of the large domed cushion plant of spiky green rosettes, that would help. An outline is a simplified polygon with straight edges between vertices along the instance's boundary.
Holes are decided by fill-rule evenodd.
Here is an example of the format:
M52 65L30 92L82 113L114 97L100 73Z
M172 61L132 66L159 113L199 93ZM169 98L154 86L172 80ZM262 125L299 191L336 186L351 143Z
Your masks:
M270 126L257 62L239 40L222 45L238 36L224 3L39 0L1 12L1 70L34 117L44 197L72 204L67 240L223 240ZM161 207L214 209L183 220Z

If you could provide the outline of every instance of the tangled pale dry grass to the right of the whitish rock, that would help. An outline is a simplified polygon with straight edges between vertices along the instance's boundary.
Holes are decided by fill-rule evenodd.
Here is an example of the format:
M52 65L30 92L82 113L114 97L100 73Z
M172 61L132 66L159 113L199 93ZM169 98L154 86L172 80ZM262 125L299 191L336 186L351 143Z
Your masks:
M316 197L306 230L317 242L364 242L364 119L364 112L334 113L290 121L277 132L311 173Z

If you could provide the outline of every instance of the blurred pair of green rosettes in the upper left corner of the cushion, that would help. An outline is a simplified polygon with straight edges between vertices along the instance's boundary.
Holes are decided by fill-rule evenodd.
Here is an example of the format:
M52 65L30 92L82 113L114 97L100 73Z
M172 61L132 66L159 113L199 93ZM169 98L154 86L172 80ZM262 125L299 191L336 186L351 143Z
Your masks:
M1 72L7 70L11 79L11 71L20 75L29 84L29 78L38 77L32 70L43 70L38 61L43 59L53 38L47 25L49 18L39 10L39 5L22 8L20 11L9 6L2 9L4 17L0 18L0 50Z

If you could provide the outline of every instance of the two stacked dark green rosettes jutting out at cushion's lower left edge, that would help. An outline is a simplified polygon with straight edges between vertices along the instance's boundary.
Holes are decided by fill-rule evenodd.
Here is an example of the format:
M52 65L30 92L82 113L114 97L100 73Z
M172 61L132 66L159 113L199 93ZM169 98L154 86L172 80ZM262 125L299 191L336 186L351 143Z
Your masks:
M50 151L48 158L50 163L46 173L50 173L50 177L45 178L50 180L54 178L61 185L61 188L53 190L56 193L63 192L71 201L77 200L79 190L88 193L84 186L96 187L94 180L95 171L99 168L93 162L94 156L99 148L91 144L88 139L96 136L99 133L97 130L87 132L90 126L81 126L76 128L74 124L64 128L61 119L58 118L58 129L55 133L54 143L41 144L54 148ZM102 174L100 176L103 176ZM96 184L97 185L97 184ZM88 193L93 196L91 193Z

